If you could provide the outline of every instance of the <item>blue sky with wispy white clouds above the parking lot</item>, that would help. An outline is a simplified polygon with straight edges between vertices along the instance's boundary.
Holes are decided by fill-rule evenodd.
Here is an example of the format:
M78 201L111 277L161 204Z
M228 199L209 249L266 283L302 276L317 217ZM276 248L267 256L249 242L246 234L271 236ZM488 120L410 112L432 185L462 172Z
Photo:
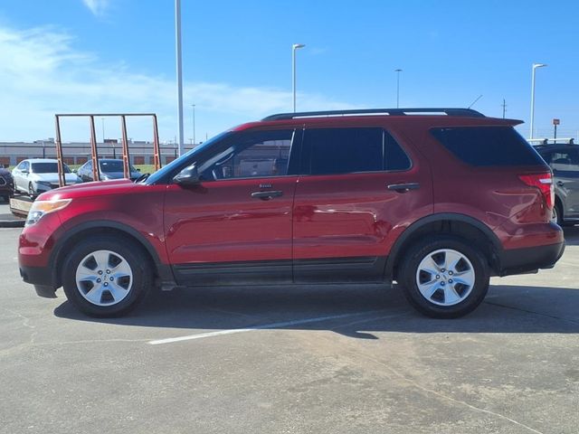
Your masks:
M56 112L156 112L176 137L173 0L3 0L0 141L54 136ZM291 109L468 107L527 122L536 137L579 135L579 2L182 0L185 141ZM87 139L69 122L63 139ZM102 125L98 124L100 132ZM105 121L106 136L119 127ZM150 138L143 122L129 136Z

